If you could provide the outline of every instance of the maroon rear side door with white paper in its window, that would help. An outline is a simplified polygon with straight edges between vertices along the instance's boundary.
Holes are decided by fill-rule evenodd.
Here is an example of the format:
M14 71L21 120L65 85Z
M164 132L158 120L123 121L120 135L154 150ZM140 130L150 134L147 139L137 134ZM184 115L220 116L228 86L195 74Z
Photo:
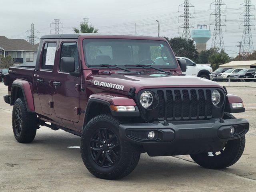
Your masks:
M54 62L56 61L57 41L43 42L42 60L39 69L35 72L35 82L42 112L52 115L52 77L54 76Z

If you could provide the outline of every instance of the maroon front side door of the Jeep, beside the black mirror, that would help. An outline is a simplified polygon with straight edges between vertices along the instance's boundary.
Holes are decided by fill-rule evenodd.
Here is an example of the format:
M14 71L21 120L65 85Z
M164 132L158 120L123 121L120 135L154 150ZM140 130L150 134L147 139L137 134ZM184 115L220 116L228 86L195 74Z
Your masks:
M54 111L58 118L78 122L80 114L80 92L78 87L81 85L81 77L71 76L69 72L60 70L60 60L62 57L72 57L75 59L75 72L80 72L80 60L76 41L61 41L59 48L60 56L58 67L52 77L54 86L53 101ZM55 84L55 83L54 83Z

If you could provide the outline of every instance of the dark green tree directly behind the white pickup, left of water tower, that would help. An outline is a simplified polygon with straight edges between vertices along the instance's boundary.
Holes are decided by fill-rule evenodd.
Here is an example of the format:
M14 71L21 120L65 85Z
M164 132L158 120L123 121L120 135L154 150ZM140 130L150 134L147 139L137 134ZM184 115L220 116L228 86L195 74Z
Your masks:
M166 40L172 47L175 56L187 57L194 62L198 62L198 52L193 40L186 40L181 37L166 38Z

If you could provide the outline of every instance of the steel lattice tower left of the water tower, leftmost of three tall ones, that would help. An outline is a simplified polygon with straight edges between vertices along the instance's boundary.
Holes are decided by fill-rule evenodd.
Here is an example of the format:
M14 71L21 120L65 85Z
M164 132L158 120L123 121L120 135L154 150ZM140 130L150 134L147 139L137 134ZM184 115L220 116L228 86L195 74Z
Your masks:
M189 24L190 18L194 18L189 13L189 8L194 7L192 4L190 4L189 0L184 0L184 3L179 5L179 7L184 7L184 13L179 16L184 18L184 24L179 26L179 28L183 28L183 33L182 33L182 38L185 38L186 40L191 39L191 34L190 34L190 28L194 28Z

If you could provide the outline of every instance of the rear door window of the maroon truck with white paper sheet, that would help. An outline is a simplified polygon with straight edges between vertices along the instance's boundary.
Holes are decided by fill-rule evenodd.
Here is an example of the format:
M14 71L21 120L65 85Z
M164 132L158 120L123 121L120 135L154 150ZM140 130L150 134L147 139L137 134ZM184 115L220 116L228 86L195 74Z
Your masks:
M56 42L46 42L43 50L41 69L52 70L56 54Z

